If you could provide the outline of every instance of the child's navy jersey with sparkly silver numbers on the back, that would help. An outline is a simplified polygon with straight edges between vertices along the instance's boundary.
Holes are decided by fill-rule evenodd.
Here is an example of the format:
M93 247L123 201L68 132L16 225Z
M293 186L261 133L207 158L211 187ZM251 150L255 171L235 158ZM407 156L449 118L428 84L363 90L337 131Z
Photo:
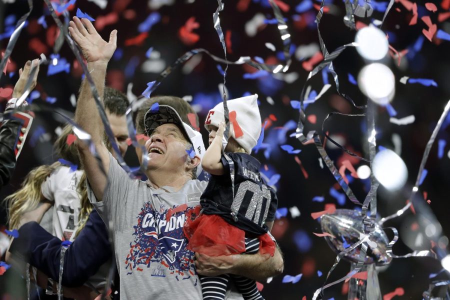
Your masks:
M234 162L234 197L229 164L222 155L223 175L211 175L201 195L205 214L219 214L228 223L254 234L267 232L266 221L275 219L278 205L275 191L262 182L259 161L247 153L226 152ZM237 221L231 211L238 211Z

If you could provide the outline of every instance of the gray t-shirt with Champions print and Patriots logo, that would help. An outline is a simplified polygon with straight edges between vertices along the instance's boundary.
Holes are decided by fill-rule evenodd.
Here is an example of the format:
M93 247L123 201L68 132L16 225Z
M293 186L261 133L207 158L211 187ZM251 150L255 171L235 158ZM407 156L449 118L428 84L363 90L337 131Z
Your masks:
M123 299L201 299L194 253L186 249L185 213L199 203L207 182L188 180L181 189L154 189L131 179L109 154L103 201L88 196L103 220L113 224L115 258ZM169 208L186 204L166 219ZM107 217L107 219L106 219ZM242 299L235 291L227 299Z

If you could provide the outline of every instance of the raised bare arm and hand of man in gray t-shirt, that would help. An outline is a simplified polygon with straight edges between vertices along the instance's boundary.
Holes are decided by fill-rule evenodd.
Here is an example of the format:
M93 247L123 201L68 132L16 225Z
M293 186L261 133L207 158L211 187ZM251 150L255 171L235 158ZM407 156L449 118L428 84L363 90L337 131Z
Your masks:
M73 40L81 48L87 61L87 69L95 83L98 95L101 97L101 102L103 102L104 77L108 61L116 47L117 30L112 30L109 35L109 41L106 42L97 33L88 19L79 19L76 16L70 21L68 30ZM109 154L103 142L104 128L86 78L81 83L76 104L75 121L90 134L102 161L103 168L107 173L109 169ZM76 145L95 197L101 200L103 190L106 187L106 177L102 174L95 157L90 154L88 147L81 141L76 142Z

